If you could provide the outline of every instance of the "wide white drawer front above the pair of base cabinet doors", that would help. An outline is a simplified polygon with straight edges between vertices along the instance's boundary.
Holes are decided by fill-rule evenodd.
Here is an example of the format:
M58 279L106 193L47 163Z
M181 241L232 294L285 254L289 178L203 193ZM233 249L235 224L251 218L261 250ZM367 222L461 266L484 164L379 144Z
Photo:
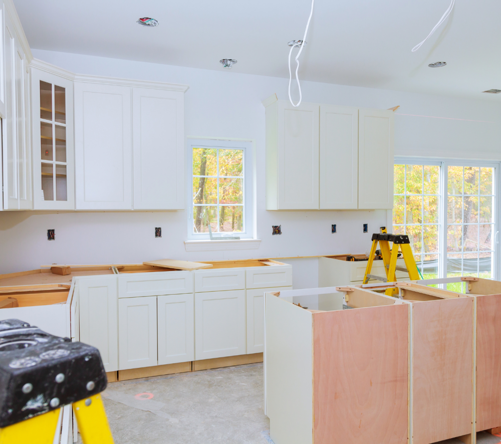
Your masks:
M181 295L193 293L193 273L152 272L118 276L118 297Z

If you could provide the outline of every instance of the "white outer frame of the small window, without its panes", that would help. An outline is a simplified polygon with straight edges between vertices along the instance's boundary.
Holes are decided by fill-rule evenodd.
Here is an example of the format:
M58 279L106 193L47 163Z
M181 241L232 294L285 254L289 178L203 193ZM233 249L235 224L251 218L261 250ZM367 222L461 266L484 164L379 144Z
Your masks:
M186 144L186 201L188 241L204 241L209 239L208 233L193 233L193 148L220 148L243 150L243 232L235 232L240 239L255 238L255 202L253 190L254 156L253 141L242 139L195 138L188 137ZM220 236L221 233L212 233ZM231 236L231 232L224 232ZM227 241L229 242L229 241Z

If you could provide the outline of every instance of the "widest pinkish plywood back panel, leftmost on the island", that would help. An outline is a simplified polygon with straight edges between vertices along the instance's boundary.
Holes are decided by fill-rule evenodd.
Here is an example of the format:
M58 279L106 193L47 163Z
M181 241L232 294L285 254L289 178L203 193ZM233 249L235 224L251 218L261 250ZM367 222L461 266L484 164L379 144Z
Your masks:
M409 305L313 318L315 444L405 444Z

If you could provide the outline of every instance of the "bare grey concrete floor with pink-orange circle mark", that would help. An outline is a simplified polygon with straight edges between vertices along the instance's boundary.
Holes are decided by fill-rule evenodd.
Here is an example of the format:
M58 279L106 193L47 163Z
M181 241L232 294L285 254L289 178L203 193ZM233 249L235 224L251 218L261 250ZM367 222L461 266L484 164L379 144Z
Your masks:
M263 363L112 382L103 400L115 444L274 444ZM477 434L477 444L498 442Z

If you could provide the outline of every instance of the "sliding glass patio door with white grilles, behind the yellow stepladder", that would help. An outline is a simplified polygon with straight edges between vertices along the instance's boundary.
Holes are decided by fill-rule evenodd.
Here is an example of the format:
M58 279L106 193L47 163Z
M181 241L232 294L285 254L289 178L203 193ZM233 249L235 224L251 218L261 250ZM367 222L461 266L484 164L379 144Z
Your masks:
M393 232L409 236L423 278L496 278L499 164L397 158L394 174Z

